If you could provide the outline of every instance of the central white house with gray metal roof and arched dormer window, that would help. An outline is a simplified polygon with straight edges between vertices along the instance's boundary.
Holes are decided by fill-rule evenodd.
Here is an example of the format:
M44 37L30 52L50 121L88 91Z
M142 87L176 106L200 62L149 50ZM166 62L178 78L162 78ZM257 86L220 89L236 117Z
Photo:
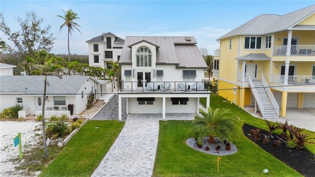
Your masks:
M201 97L209 107L210 92L203 89L207 64L196 44L194 37L126 36L119 120L122 98L126 114L162 114L163 120L167 113L198 113Z

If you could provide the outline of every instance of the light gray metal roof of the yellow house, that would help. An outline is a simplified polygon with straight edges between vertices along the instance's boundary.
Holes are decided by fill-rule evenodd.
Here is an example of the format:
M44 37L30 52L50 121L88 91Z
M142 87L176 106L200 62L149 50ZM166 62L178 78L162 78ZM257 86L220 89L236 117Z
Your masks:
M258 15L245 24L224 34L217 40L232 37L234 35L264 35L274 32L294 29L301 20L315 13L315 5L285 14L285 15Z

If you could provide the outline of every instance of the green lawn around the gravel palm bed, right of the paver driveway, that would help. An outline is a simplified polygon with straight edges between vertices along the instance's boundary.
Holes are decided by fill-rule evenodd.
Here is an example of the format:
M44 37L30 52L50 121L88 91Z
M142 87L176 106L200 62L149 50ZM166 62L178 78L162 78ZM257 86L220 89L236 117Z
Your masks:
M202 103L205 100L201 99ZM199 152L186 145L191 121L160 121L158 149L155 161L154 177L296 177L301 176L284 163L259 148L246 138L242 132L243 123L248 123L268 130L263 119L254 118L234 104L223 102L223 98L211 95L213 108L229 108L237 120L236 131L230 140L237 146L238 152L233 155L221 156L220 173L217 173L217 156ZM315 135L315 132L307 131ZM307 144L307 148L315 153L315 145ZM301 164L303 165L303 164ZM267 168L269 172L262 171Z

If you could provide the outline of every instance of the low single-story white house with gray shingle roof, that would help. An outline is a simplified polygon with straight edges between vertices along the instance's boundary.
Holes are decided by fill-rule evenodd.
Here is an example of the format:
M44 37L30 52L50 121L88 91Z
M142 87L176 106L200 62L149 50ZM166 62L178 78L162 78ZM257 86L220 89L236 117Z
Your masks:
M4 108L23 105L30 114L42 110L44 76L0 76L0 112ZM86 110L87 96L94 92L96 98L106 92L106 86L90 76L47 76L45 109L55 106L66 107L73 104L73 114ZM102 88L102 89L101 89Z

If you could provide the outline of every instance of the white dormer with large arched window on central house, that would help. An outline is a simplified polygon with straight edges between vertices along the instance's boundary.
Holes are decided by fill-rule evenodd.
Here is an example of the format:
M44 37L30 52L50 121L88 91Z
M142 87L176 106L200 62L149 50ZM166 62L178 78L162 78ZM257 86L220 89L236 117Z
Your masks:
M132 68L136 69L152 69L156 68L157 50L159 46L141 40L128 46L131 49Z

